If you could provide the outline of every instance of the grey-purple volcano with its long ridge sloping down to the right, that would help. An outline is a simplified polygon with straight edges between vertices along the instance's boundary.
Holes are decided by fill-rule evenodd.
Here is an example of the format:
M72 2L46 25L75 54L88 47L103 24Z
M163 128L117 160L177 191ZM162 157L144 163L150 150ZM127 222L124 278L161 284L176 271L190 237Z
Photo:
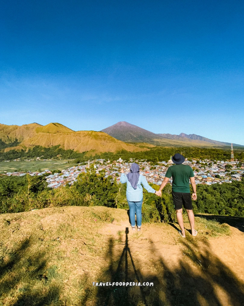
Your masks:
M103 129L101 132L105 132L110 136L125 142L130 143L149 143L154 145L163 146L196 146L196 147L223 147L230 146L228 142L221 142L217 140L208 139L196 134L184 134L172 135L172 134L155 134L153 132L142 129L136 125L128 123L126 121L120 121L114 125ZM234 146L243 147L239 144L233 144Z

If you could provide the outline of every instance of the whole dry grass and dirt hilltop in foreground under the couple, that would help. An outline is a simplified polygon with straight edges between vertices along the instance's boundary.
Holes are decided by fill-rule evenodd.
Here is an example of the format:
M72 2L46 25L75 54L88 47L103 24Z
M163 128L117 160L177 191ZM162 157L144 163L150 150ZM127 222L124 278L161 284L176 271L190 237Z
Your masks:
M196 217L196 237L185 219L185 239L177 224L134 232L127 210L106 207L2 214L0 224L0 305L244 304L243 218Z

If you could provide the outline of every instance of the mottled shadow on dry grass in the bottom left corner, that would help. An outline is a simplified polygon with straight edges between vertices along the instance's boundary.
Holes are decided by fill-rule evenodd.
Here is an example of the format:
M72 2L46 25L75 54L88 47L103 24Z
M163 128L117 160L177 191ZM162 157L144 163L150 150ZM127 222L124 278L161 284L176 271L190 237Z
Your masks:
M47 269L45 252L29 252L31 239L0 258L0 306L61 306L60 287L53 282L56 267Z

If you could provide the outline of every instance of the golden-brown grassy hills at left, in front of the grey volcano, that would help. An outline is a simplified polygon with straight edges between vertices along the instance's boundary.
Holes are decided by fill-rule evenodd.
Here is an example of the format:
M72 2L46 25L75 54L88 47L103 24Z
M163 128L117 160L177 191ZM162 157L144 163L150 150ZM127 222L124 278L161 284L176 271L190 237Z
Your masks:
M27 125L0 125L0 140L5 144L4 151L27 150L29 147L52 147L60 145L61 148L72 149L77 152L89 151L88 155L101 152L145 151L133 144L117 140L106 133L95 131L75 132L60 123L49 123L42 126L37 123ZM17 145L12 146L16 143ZM7 146L7 147L6 147Z

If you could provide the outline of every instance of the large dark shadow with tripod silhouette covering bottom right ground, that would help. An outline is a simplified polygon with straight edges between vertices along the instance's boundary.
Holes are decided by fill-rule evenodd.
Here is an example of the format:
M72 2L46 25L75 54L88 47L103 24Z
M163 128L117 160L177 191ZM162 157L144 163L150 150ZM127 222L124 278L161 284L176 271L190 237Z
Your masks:
M244 304L244 286L235 274L213 255L210 245L205 242L199 246L192 237L181 241L182 258L174 268L169 267L152 244L151 254L154 262L150 262L155 273L142 273L142 265L135 263L128 240L128 228L124 249L120 256L114 250L114 241L109 240L106 254L109 268L100 282L124 282L126 285L92 287L81 305L96 306L241 306ZM133 282L136 285L132 286ZM143 285L143 283L151 285ZM131 284L130 284L131 283ZM141 286L138 286L138 283ZM87 303L88 302L88 303Z

